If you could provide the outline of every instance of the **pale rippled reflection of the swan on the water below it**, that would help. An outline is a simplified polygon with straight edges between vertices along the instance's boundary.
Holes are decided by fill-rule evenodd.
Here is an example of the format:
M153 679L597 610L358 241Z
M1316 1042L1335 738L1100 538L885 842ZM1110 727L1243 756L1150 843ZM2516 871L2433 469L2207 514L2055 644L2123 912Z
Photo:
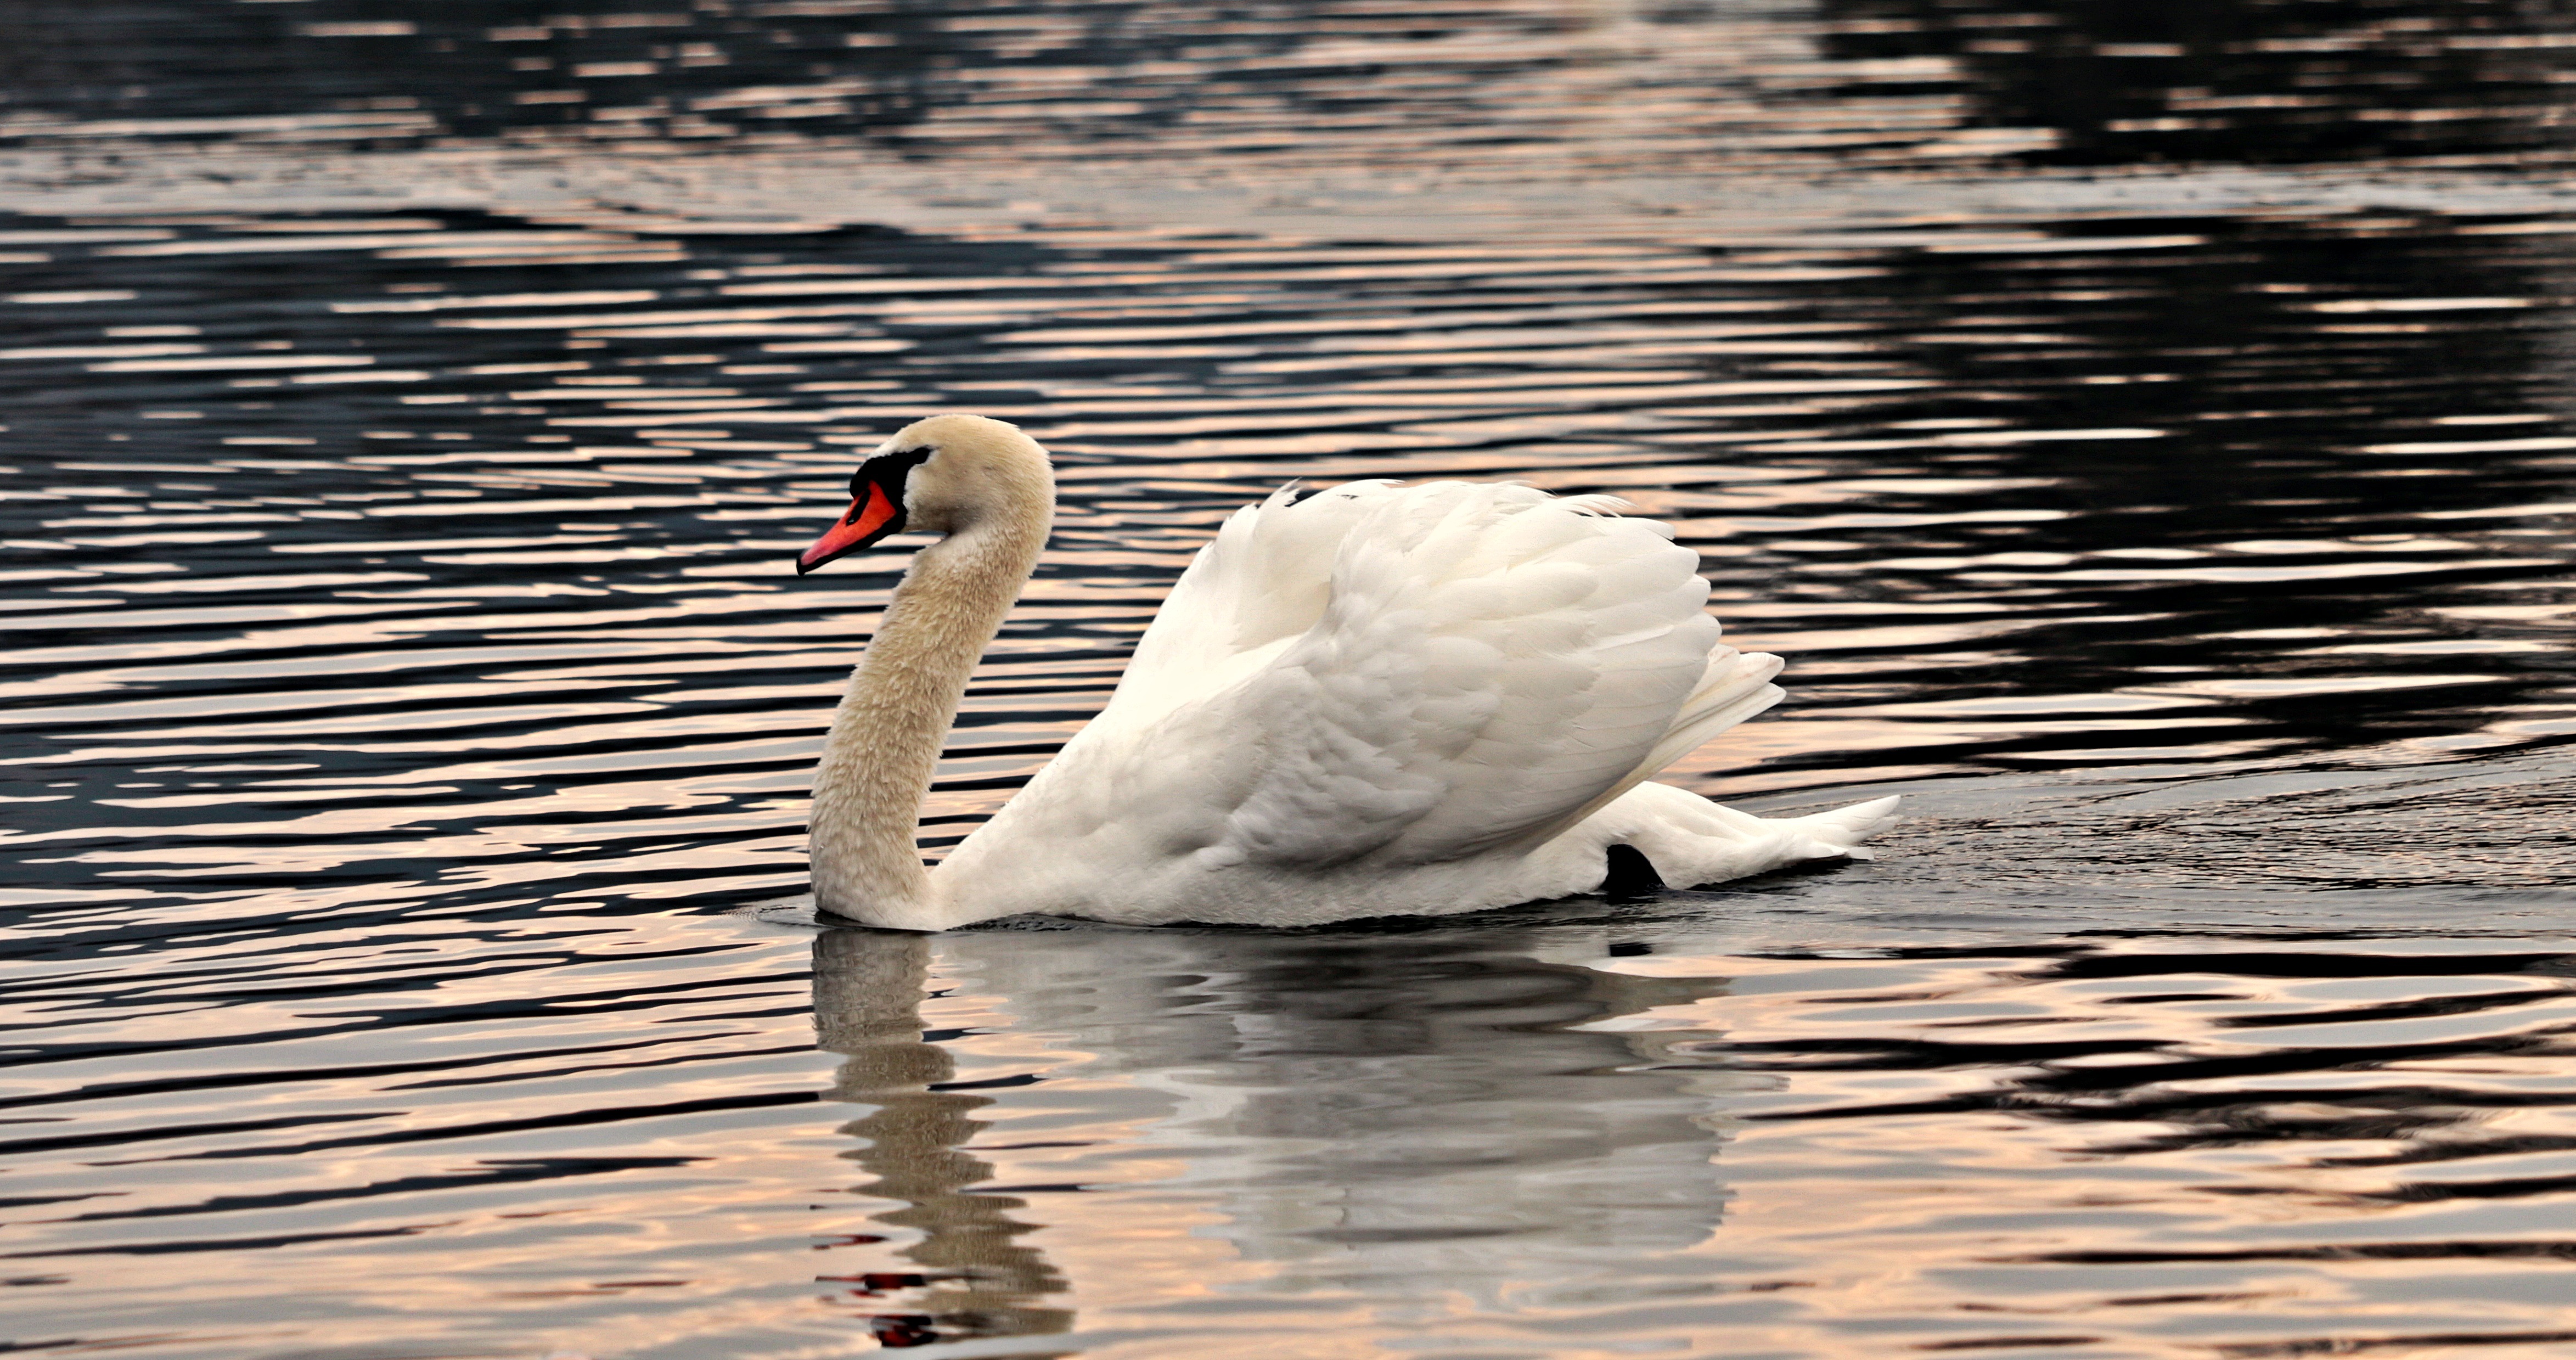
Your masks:
M917 1280L878 1278L909 1288L873 1327L889 1345L1054 1334L1072 1327L1046 1303L1066 1275L1092 1296L1139 1270L1121 1270L1113 1231L1048 1234L1059 1270L1023 1242L1043 1226L1015 1218L1025 1200L971 1193L994 1177L966 1151L992 1126L971 1115L999 1097L1007 1120L1012 1095L933 1090L956 1074L922 1041L933 958L943 987L999 1002L1015 1033L1064 1059L1030 1092L1064 1092L1046 1138L1079 1136L1061 1102L1100 1092L1103 1123L1121 1128L1108 1141L1126 1146L1095 1151L1154 1167L1149 1182L1084 1175L1090 1193L1048 1195L1048 1216L1082 1226L1103 1195L1144 1190L1170 1205L1157 1249L1188 1231L1206 1265L1190 1285L1244 1311L1306 1296L1517 1314L1723 1290L1718 1262L1682 1252L1728 1200L1710 1167L1731 1123L1718 1110L1775 1077L1718 1069L1692 1053L1710 1030L1643 1017L1723 994L1726 979L1577 963L1628 950L1587 925L824 930L817 1030L848 1053L835 1097L878 1105L848 1126L868 1141L850 1157L876 1175L863 1193L902 1200L876 1218L922 1234L902 1249Z

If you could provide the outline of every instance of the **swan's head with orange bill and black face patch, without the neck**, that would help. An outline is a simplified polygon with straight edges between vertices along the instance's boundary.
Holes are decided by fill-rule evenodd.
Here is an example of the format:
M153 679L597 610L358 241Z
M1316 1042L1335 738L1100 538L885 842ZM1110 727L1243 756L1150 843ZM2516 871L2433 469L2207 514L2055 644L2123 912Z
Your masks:
M997 518L1046 536L1056 479L1038 440L981 415L933 415L896 430L850 474L850 510L806 551L796 574L889 533L961 533Z

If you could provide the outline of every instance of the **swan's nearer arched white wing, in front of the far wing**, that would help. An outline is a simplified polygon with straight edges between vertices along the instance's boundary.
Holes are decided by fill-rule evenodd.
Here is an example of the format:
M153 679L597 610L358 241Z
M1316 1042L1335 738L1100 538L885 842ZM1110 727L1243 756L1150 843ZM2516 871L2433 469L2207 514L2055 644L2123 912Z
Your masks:
M1553 832L1651 773L1734 657L1659 525L1525 487L1358 500L1314 623L1170 713L1229 734L1203 752L1231 775L1200 783L1229 801L1208 863L1435 863Z

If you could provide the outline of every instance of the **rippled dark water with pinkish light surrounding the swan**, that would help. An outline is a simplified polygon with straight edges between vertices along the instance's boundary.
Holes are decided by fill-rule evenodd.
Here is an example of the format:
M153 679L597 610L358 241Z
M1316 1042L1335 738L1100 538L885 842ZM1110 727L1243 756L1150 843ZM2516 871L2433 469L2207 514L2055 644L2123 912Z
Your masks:
M569 0L564 0L569 3ZM2576 1352L2576 10L0 10L0 1342ZM817 932L902 559L1064 515L925 845L1278 482L1680 528L1886 858Z

